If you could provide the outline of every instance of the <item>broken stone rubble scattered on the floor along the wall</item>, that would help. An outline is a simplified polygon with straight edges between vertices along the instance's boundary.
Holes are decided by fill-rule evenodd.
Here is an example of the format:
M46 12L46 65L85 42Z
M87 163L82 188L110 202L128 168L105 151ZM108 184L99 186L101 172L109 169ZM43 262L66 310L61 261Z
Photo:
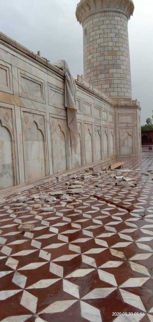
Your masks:
M90 167L89 169L85 169L84 174L78 173L67 175L66 178L69 178L69 181L65 181L65 187L62 187L62 190L53 190L52 188L53 184L65 180L64 178L60 177L56 177L56 180L50 181L45 185L45 188L47 186L48 189L47 192L40 191L39 193L38 189L43 189L44 185L36 186L33 189L37 189L38 193L31 195L30 206L27 206L26 204L26 201L30 200L30 198L22 195L20 191L14 192L14 195L16 195L17 197L12 198L12 201L15 202L14 206L16 209L22 208L22 211L24 212L26 210L31 210L31 212L34 212L34 210L41 211L41 214L43 215L43 213L46 212L52 213L54 211L60 211L60 207L73 209L74 207L71 204L73 204L73 202L77 202L77 199L75 199L76 196L83 194L87 190L89 184L91 187L93 187L90 195L98 197L98 195L95 195L94 188L96 190L98 188L100 194L103 192L103 189L106 185L116 185L120 187L123 186L123 188L134 188L137 185L136 180L138 173L146 176L151 176L151 180L153 180L152 169L148 170L147 172L139 168L133 171L132 169L123 168L123 164L123 162L118 162L114 165L103 167L102 171ZM34 203L34 201L37 201L37 203ZM5 199L0 199L0 204L2 203L5 203ZM25 210L23 210L23 208ZM30 232L34 228L33 224L22 224L22 222L20 223L21 225L19 226L19 231L21 232Z

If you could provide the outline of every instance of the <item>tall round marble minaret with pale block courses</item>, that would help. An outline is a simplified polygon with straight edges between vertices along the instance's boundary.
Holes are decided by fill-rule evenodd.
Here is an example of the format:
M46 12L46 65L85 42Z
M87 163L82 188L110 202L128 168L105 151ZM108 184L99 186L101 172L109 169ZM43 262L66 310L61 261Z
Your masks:
M84 78L108 95L131 98L128 21L132 0L81 0Z

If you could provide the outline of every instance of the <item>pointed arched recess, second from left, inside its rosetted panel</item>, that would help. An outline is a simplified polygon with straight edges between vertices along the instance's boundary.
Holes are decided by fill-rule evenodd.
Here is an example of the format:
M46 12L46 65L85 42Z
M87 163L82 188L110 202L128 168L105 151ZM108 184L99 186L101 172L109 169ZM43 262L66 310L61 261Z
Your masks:
M30 128L25 130L24 140L26 181L44 177L46 175L44 137L35 121L31 123Z

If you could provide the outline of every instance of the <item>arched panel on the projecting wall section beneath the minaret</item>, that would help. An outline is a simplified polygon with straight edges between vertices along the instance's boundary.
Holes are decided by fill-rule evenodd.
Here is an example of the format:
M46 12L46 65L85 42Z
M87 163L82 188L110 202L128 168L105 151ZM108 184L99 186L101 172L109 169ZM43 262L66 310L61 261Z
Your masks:
M120 154L129 155L133 153L133 129L120 128Z

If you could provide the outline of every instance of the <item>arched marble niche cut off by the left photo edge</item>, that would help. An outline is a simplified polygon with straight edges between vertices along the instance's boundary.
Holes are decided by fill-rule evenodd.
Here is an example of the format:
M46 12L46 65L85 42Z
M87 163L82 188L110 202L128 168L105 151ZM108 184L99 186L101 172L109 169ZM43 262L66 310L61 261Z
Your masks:
M13 185L12 136L0 120L0 189Z

